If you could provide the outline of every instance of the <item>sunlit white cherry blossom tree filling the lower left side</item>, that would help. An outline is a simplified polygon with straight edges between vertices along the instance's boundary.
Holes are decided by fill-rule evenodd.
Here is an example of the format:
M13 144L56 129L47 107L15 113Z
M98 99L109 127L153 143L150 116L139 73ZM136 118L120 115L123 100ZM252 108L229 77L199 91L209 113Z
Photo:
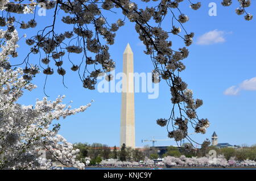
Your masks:
M18 45L18 33L0 30L0 38L5 39L0 52L0 169L57 169L56 161L65 166L84 168L84 163L76 160L79 150L58 133L59 120L79 112L84 112L90 103L76 109L62 104L65 96L51 102L44 98L35 105L23 106L18 103L24 90L31 91L35 85L24 79L24 70L6 69L9 56ZM36 150L51 153L51 159L37 157Z

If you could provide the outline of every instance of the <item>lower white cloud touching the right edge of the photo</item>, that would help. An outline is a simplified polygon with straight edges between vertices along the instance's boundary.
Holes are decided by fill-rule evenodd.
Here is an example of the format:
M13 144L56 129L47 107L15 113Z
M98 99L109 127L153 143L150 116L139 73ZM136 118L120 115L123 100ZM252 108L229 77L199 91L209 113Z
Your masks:
M256 77L246 79L239 86L231 86L224 91L225 95L238 95L241 90L256 91Z

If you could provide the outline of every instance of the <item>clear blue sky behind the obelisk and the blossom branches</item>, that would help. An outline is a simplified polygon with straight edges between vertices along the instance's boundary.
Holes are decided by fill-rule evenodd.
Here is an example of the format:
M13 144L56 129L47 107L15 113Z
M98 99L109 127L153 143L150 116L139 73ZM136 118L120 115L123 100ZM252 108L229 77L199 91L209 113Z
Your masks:
M217 3L217 16L208 15L209 2ZM197 142L202 142L216 131L219 142L229 142L233 145L256 144L256 81L253 79L242 83L246 79L256 77L255 18L247 22L243 16L236 15L236 3L223 7L219 1L204 1L201 9L197 11L189 9L187 3L180 5L189 16L189 21L184 24L186 30L195 32L195 43L189 47L189 57L183 61L187 68L181 73L181 77L188 83L189 89L193 90L195 98L204 100L203 107L197 110L199 117L207 117L210 121L206 134L193 134L191 137ZM249 12L256 15L253 8L250 8ZM27 17L29 19L31 15ZM50 13L36 18L39 27L49 25L49 18ZM116 18L109 15L108 19ZM171 28L170 18L166 19L163 27ZM57 24L57 29L64 28L66 27ZM34 35L31 33L35 33L35 30L19 31L19 36L23 33L27 33L29 37ZM177 37L172 36L171 40L174 48L184 47L183 41ZM134 52L134 71L151 72L150 57L143 54L144 47L134 30L134 23L127 21L125 26L118 30L115 44L110 46L109 50L116 62L115 72L122 71L122 53L127 43L130 43ZM20 40L19 44L19 57L11 60L12 62L21 62L28 50L24 39ZM34 64L38 64L38 57L34 58ZM73 56L73 60L80 62L81 57ZM67 69L71 66L68 60L64 61L64 66ZM33 82L38 89L24 92L19 103L34 104L36 98L42 99L45 96L44 78L43 74L34 78ZM53 100L64 94L66 103L73 100L73 108L87 104L92 99L94 103L85 112L61 120L60 134L70 142L119 145L121 94L86 90L82 87L77 73L71 71L65 76L65 85L68 89L62 85L62 78L58 74L49 77L46 86L49 99ZM224 94L224 91L232 86L236 87ZM172 105L169 88L164 82L160 82L159 98L147 99L147 95L148 93L135 94L136 146L151 145L151 142L142 143L141 140L150 139L152 136L156 139L167 138L166 128L156 125L155 120L170 114ZM156 145L174 144L172 140L156 142Z

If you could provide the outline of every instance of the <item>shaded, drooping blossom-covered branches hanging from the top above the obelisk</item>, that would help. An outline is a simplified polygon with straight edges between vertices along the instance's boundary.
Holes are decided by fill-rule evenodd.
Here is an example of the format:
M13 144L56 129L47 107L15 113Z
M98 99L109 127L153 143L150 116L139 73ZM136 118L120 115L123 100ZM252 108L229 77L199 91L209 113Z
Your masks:
M187 3L192 10L198 10L201 3L190 0L142 0L142 2L151 7L142 8L130 0L38 0L36 2L31 0L27 3L6 0L0 3L7 17L0 17L0 26L8 27L5 36L9 36L14 31L15 23L18 23L19 28L22 29L35 28L36 18L28 22L19 22L15 19L15 14L34 13L35 5L42 5L43 9L52 13L53 18L51 24L26 40L31 46L31 51L22 62L25 64L23 78L30 81L38 73L38 67L31 64L36 64L31 62L33 54L40 54L38 65L46 74L46 78L55 71L64 78L67 70L63 68L63 60L67 58L71 70L78 71L82 86L93 90L100 73L108 73L106 79L109 81L113 77L110 71L115 68L115 62L110 57L109 45L114 44L115 33L119 27L124 26L126 18L134 22L139 39L146 48L144 53L151 57L154 66L152 82L159 83L163 80L170 87L173 104L170 108L170 117L158 119L156 123L162 127L166 126L168 137L174 138L178 145L181 145L181 140L184 138L193 143L195 141L188 136L188 129L204 134L209 127L209 120L197 116L196 110L202 106L203 100L193 98L192 90L188 89L187 83L180 77L180 72L185 69L183 60L189 55L187 47L192 44L194 33L185 29L189 17L179 5ZM222 1L223 6L229 6L231 3L231 0ZM253 16L246 12L246 8L251 4L250 1L238 0L238 4L240 7L236 10L237 14L245 14L245 19L251 20ZM113 22L107 20L106 14L118 12L124 18L115 16L117 19ZM162 24L166 21L170 26L164 30ZM57 23L64 23L69 31L57 32ZM180 37L184 47L172 48L172 36ZM72 60L73 53L81 54L80 62ZM14 51L12 56L18 56L17 52Z

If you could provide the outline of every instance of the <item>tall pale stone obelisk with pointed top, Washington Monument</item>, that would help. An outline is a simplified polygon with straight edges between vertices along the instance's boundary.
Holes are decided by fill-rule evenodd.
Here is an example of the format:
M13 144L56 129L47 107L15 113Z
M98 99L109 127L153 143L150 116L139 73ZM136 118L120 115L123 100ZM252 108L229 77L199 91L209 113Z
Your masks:
M133 51L129 44L123 52L123 74L120 148L122 144L135 148Z

